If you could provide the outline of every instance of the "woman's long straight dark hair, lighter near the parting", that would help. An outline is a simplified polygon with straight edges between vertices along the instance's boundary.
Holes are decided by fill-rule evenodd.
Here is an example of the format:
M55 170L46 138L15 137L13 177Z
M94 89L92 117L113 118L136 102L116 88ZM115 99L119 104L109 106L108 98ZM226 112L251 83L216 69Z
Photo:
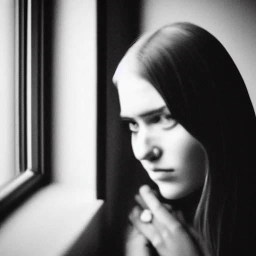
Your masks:
M194 227L214 255L247 254L254 232L249 230L256 118L230 55L203 28L178 22L142 36L124 58L131 71L153 84L174 118L207 152Z

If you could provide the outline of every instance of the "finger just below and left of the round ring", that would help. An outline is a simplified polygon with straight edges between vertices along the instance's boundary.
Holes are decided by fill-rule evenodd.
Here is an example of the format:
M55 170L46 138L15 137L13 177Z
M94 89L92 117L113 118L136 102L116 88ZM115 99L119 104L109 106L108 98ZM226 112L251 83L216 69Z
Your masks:
M158 247L162 243L162 238L157 229L151 223L144 223L140 220L141 210L138 206L134 206L129 214L129 220L151 243L154 247Z

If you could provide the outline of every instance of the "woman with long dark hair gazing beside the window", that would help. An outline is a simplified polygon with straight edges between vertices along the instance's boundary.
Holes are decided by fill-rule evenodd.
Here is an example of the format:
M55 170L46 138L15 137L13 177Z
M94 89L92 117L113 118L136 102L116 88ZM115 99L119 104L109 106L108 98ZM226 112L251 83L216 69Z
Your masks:
M221 43L191 23L163 26L129 48L113 82L134 156L162 197L140 188L127 254L248 255L256 118Z

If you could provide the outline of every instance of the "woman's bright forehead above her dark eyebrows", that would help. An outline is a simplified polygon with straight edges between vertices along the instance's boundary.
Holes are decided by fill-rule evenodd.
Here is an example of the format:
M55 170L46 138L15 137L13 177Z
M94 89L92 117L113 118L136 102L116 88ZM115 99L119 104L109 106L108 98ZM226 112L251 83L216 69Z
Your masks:
M150 82L130 72L118 77L117 90L122 116L135 117L165 105Z

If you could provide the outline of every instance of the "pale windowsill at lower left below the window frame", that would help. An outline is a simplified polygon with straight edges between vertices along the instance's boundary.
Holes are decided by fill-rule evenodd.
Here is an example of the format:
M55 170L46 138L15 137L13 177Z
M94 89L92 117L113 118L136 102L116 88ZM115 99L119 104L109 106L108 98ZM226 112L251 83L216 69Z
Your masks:
M63 255L102 204L82 187L43 187L1 224L0 255Z

